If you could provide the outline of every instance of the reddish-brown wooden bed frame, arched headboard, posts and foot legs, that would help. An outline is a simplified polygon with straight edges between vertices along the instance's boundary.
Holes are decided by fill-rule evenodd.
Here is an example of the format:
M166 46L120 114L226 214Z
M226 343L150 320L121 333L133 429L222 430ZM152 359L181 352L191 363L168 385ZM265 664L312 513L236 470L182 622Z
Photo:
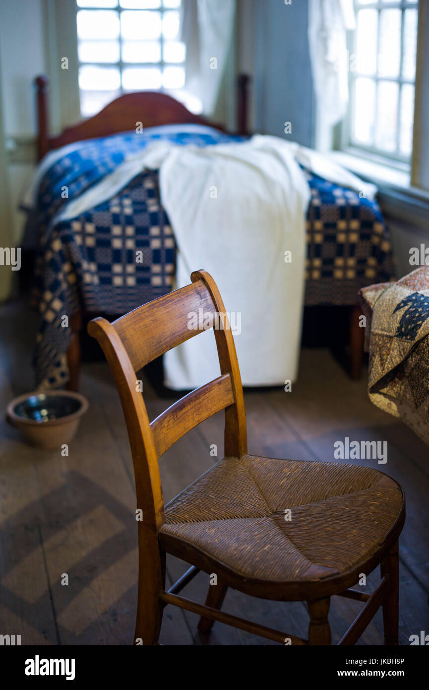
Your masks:
M68 127L57 136L50 135L48 118L49 78L41 75L34 80L37 95L37 158L40 160L50 150L72 144L74 141L107 137L119 132L133 130L136 122L143 127L166 124L203 124L222 132L226 129L209 121L206 117L194 115L183 103L162 92L141 91L120 96L109 103L97 115ZM239 75L237 79L237 132L248 135L248 90L250 77ZM199 267L197 267L199 268ZM355 307L350 315L350 375L359 379L363 361L363 328L359 328L361 308ZM68 388L77 391L81 366L81 345L79 333L83 314L74 314L70 319L72 342L67 359L70 374Z

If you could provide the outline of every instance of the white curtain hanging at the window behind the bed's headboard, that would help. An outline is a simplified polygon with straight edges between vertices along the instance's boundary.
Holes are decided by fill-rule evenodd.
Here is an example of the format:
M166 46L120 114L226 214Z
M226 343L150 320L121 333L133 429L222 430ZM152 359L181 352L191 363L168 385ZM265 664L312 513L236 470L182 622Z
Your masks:
M185 88L215 110L228 59L236 0L182 0L181 40L186 43Z

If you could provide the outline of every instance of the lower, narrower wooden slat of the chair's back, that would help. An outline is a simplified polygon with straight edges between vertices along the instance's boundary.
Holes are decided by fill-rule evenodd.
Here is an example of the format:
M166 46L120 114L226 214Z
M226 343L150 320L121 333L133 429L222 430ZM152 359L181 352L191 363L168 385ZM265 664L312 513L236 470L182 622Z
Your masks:
M163 455L194 426L232 404L234 393L229 374L223 374L182 397L150 424L157 456Z

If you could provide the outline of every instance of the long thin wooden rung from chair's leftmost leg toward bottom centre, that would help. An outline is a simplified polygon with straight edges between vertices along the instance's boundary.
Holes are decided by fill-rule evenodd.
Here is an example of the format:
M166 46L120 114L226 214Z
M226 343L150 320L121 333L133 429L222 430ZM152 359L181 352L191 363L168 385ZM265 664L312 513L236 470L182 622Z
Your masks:
M258 623L252 623L244 618L237 618L235 615L230 615L230 613L224 613L223 611L218 611L217 609L212 609L203 604L197 604L197 602L190 601L189 599L184 599L183 597L178 597L174 594L169 594L166 591L161 591L159 593L159 598L166 604L172 604L173 606L179 607L179 609L185 609L186 611L191 611L191 613L198 613L203 616L203 618L212 618L220 623L225 623L233 628L238 628L239 630L245 630L253 635L260 635L261 638L266 638L267 640L274 640L274 642L280 642L280 644L285 643L286 638L290 638L292 644L306 645L307 640L295 637L295 635L289 635L288 633L281 633L278 630L272 630L272 628L267 628Z

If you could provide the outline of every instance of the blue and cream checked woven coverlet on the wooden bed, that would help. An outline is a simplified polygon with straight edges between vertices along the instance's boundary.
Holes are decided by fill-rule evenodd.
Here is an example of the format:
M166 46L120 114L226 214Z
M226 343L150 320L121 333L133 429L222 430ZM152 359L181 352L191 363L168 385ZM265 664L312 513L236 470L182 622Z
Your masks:
M160 203L157 170L141 173L114 198L79 217L56 221L57 215L154 139L197 146L241 140L198 126L183 130L82 141L44 173L32 217L38 234L34 304L41 316L34 355L38 387L67 381L72 314L80 309L94 315L126 313L167 293L174 276L176 247ZM379 206L305 172L312 193L306 304L355 304L359 288L394 275Z

